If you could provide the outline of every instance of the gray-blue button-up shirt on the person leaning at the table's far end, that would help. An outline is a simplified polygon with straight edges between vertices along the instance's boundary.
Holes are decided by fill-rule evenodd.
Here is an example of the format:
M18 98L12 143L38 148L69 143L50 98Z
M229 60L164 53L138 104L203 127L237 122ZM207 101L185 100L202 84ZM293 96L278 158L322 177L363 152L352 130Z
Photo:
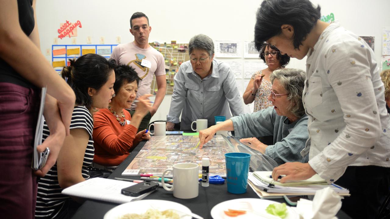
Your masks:
M229 108L234 116L244 113L241 95L229 65L214 59L212 69L211 74L202 80L193 71L190 61L180 65L174 77L168 122L179 123L182 113L181 129L190 130L191 122L199 118L206 118L208 127L215 125L214 116L229 119Z

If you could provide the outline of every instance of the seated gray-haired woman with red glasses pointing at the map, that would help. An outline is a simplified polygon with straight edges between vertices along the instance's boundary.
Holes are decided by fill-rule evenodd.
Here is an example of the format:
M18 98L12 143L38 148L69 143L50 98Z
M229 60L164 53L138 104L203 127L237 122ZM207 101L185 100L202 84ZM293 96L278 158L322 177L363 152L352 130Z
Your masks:
M302 104L306 72L300 69L279 69L270 75L271 107L232 117L199 132L200 148L217 131L234 131L241 142L268 155L279 165L285 162L307 162L300 152L308 139L307 115ZM253 136L273 135L273 145L265 145Z

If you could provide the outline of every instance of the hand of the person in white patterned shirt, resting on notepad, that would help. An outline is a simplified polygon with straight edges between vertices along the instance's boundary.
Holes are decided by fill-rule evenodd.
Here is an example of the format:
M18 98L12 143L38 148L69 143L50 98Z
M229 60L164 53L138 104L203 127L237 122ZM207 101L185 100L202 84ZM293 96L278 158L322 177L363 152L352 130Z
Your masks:
M309 165L309 163L301 162L287 162L277 166L272 171L273 180L277 180L280 175L285 175L280 179L281 183L287 180L305 180L316 174L316 171Z

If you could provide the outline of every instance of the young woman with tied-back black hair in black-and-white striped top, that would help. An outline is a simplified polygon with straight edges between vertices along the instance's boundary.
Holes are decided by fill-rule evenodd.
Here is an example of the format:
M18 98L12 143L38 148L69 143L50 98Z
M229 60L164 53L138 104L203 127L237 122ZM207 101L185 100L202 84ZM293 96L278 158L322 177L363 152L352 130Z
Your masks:
M61 191L90 178L87 167L94 158L92 110L107 108L114 94L115 60L90 53L69 61L61 76L76 94L70 134L65 137L57 163L38 182L36 218L70 218L77 210L78 203ZM43 139L48 134L45 122Z

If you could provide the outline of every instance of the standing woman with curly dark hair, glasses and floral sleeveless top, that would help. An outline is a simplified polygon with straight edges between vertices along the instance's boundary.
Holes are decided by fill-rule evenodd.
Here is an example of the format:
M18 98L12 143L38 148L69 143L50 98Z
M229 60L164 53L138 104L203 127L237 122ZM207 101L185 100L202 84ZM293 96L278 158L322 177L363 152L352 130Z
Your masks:
M250 79L243 94L245 104L255 101L254 112L272 106L268 101L270 89L272 87L269 75L276 69L284 68L290 61L288 55L280 54L280 51L271 44L264 44L260 49L260 58L268 65L268 68L255 72Z

